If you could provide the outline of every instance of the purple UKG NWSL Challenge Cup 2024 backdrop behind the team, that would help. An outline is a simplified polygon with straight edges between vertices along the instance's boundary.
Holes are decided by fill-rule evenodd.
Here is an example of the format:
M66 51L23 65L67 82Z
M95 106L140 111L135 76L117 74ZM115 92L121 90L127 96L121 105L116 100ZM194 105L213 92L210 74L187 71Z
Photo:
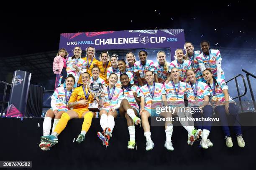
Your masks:
M148 59L154 61L156 61L156 53L164 50L166 60L171 62L174 60L175 50L183 49L184 42L184 30L181 29L77 32L61 34L59 48L64 47L71 57L74 47L79 46L85 50L88 46L93 46L96 49L97 59L102 50L109 51L110 55L117 54L120 58L125 58L126 52L131 51L134 52L137 60L136 52L145 49L148 52Z

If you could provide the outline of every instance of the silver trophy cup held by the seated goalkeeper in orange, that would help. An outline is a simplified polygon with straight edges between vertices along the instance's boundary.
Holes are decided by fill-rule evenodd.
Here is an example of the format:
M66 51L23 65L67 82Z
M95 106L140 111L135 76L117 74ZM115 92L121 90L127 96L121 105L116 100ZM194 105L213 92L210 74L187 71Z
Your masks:
M93 102L89 103L88 109L92 112L99 112L100 105L96 102L96 97L102 93L103 85L100 82L93 82L90 85L90 94L93 95Z

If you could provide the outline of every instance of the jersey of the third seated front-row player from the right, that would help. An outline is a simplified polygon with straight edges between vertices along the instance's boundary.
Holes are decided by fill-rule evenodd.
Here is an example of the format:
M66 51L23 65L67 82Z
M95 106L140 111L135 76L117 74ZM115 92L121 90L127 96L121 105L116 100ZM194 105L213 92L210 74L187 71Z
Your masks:
M176 90L174 89L174 87L176 88ZM164 83L164 89L166 91L168 105L184 106L184 92L186 91L186 83L179 81L179 84L174 84L174 87L172 85L172 81L169 81L167 84Z

